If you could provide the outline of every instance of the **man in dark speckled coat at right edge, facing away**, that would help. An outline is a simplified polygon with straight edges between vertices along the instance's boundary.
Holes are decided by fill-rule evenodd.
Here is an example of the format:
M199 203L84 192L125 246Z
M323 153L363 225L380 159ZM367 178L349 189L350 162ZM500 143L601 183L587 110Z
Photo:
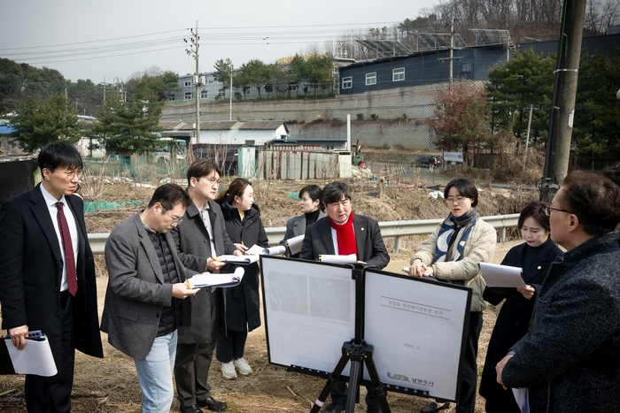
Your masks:
M620 188L571 172L547 214L552 240L567 252L551 264L529 333L497 364L498 382L527 387L532 413L618 411Z

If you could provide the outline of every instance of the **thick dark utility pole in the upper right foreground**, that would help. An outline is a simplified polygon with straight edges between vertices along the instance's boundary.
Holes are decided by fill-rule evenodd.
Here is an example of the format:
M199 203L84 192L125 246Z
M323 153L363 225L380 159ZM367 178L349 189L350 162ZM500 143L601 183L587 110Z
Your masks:
M575 117L577 77L584 34L585 0L564 0L555 69L554 96L549 116L545 170L540 200L549 202L549 188L561 187L569 171L570 137Z

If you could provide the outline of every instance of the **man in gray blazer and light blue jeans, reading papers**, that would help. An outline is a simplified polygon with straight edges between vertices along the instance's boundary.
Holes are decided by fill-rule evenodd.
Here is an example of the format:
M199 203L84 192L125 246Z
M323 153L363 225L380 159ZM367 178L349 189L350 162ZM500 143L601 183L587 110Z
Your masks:
M182 222L190 195L175 184L155 189L148 207L116 226L105 243L108 287L101 331L133 357L143 413L170 411L177 328L191 320L189 300L198 290L169 233Z

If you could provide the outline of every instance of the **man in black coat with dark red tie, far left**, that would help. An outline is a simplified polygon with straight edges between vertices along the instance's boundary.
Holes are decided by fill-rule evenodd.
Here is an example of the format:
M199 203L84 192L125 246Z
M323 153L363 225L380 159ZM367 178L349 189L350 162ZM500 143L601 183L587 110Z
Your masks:
M97 317L95 265L74 195L81 156L68 142L46 145L38 157L43 182L0 208L2 327L12 344L26 346L28 331L50 340L58 374L27 375L29 412L69 412L75 349L103 357Z

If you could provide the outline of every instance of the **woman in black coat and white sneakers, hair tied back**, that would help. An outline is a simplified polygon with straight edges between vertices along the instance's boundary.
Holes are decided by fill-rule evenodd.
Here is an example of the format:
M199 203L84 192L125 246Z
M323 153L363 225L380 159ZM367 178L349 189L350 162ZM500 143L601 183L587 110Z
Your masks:
M248 180L236 178L229 189L218 197L226 232L237 249L245 251L253 245L268 247L267 233L254 204L254 191ZM229 265L224 272L234 272ZM222 332L216 356L225 379L236 379L236 373L247 376L252 368L244 359L248 331L260 326L259 264L244 265L244 278L237 287L221 288L223 294Z

